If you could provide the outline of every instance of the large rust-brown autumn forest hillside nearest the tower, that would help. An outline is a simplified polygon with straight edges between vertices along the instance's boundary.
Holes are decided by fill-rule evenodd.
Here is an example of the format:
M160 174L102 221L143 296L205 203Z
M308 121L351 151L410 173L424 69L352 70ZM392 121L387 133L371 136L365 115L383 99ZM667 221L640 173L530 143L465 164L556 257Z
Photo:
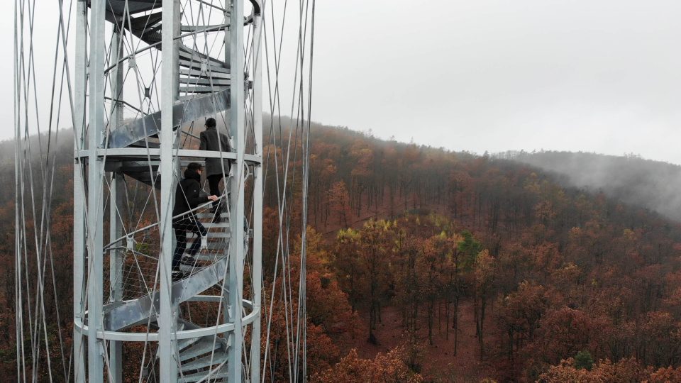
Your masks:
M280 153L266 150L266 166L278 166L271 159ZM64 179L71 155L59 154ZM9 181L13 167L3 161L0 172ZM265 275L278 235L275 185L267 180ZM65 290L70 188L55 185L52 206L54 278ZM289 196L297 221L300 190ZM309 190L311 381L681 380L679 223L565 187L536 167L320 125ZM11 193L0 200L4 270L13 270ZM296 265L298 252L291 254ZM9 305L11 276L0 284ZM63 294L65 331L70 291ZM55 311L54 300L45 304ZM273 360L286 353L284 314L272 325ZM12 313L0 321L1 371L13 376ZM273 380L287 374L283 363L272 366Z

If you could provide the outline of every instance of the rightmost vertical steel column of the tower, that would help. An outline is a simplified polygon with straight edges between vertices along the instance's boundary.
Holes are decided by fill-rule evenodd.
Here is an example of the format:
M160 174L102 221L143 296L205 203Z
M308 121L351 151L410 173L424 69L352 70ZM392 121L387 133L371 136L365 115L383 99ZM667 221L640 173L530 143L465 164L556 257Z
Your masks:
M260 165L253 170L253 321L250 338L250 381L260 382L260 303L262 295L262 16L253 15L253 140Z

